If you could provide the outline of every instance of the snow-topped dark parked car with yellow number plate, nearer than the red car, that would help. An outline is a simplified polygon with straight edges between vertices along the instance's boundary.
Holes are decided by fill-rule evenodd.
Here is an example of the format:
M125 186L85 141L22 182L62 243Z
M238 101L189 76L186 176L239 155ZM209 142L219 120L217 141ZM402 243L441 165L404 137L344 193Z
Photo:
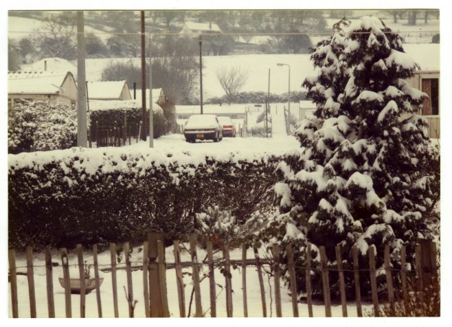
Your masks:
M185 123L183 135L187 142L195 142L196 139L218 142L223 139L223 128L216 115L191 115Z

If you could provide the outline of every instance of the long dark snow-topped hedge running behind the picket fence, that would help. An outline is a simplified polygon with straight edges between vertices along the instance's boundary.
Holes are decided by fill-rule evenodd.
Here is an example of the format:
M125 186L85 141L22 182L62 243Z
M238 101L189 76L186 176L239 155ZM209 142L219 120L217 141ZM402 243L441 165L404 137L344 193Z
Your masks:
M71 148L9 155L9 244L71 247L194 232L212 205L245 223L268 212L278 158Z

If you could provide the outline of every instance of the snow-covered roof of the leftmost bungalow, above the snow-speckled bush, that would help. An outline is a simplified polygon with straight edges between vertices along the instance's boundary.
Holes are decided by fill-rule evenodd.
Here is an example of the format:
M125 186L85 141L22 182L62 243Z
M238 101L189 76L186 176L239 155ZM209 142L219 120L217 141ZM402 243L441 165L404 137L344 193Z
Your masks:
M56 94L66 76L54 71L16 71L8 73L8 93Z

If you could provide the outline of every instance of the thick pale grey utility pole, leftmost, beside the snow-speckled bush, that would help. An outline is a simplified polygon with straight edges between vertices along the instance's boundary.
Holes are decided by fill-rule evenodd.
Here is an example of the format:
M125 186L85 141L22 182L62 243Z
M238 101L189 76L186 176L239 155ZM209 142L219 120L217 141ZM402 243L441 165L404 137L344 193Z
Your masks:
M84 19L77 12L77 146L87 147L86 76L84 70Z

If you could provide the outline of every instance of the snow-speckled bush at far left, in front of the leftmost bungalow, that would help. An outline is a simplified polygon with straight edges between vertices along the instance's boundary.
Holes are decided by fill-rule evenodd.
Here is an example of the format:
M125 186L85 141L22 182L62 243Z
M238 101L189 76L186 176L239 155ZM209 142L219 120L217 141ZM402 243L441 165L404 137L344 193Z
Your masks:
M15 103L8 111L8 153L76 146L74 106L44 101Z

